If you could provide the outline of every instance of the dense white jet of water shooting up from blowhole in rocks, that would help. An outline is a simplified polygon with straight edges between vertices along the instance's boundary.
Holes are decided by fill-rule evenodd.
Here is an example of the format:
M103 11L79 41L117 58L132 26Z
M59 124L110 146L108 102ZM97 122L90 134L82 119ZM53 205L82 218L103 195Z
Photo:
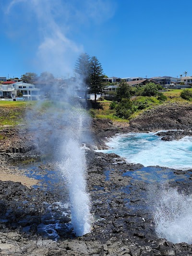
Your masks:
M79 106L76 106L76 108ZM60 170L67 181L72 204L72 227L77 236L91 231L90 199L86 192L84 149L81 147L82 129L87 124L87 117L82 109L69 112L70 130L64 138L60 156L63 159Z

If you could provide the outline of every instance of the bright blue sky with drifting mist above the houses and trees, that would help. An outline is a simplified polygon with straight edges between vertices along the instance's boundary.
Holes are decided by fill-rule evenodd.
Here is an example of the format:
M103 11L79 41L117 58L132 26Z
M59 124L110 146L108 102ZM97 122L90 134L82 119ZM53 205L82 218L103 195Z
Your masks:
M0 76L73 75L79 54L118 77L192 75L191 0L0 0Z

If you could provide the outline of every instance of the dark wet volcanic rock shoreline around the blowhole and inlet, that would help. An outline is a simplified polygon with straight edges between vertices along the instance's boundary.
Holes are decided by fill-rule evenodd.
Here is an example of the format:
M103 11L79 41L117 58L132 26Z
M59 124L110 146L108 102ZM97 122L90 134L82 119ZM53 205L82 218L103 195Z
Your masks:
M159 118L159 115L161 117ZM163 116L165 117L163 119ZM51 184L53 189L45 186L27 187L21 182L0 181L0 255L14 256L189 256L192 245L173 244L166 239L159 239L155 232L152 215L140 206L147 204L146 183L134 182L128 171L141 169L141 164L127 163L115 154L103 154L92 149L106 148L106 140L117 134L127 132L171 131L163 136L165 140L191 136L192 107L190 105L170 104L154 110L147 110L130 122L130 126L113 124L109 120L93 120L91 132L93 142L87 146L87 190L91 198L93 215L92 232L83 237L75 237L66 225L70 221L70 211L61 214L63 208L59 203L67 202L68 193L61 186L61 180ZM167 128L166 128L167 127ZM6 127L1 134L6 135L6 142L0 145L0 172L26 175L28 167L23 169L12 165L12 162L38 158L40 152L33 140L33 134L22 127ZM20 133L19 133L20 131ZM13 149L14 148L14 149ZM13 152L14 151L14 152ZM26 164L28 166L28 164ZM34 163L31 164L34 166ZM34 172L38 175L54 177L52 170L57 163L47 161L36 163ZM191 171L173 170L178 177L185 172L189 174L185 181L171 184L179 186L191 194ZM59 173L56 175L60 177ZM51 176L52 175L52 176ZM129 204L128 204L129 202ZM53 230L48 229L49 236L39 230L39 225L53 224L50 208L62 227L56 230L59 239L56 241ZM58 216L57 216L58 215Z

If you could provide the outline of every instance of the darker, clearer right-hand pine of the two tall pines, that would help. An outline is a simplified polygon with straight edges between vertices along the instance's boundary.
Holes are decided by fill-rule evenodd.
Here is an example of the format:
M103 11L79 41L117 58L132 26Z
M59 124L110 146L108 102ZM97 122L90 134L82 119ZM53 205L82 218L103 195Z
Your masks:
M90 92L95 94L95 102L96 94L101 93L104 87L102 84L103 77L101 63L99 63L96 56L93 56L90 60Z

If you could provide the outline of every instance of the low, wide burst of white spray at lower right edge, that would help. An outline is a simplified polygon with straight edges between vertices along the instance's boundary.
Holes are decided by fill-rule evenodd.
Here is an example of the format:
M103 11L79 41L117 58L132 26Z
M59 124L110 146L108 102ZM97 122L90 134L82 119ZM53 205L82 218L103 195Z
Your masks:
M192 244L192 195L161 184L149 190L156 234L172 243ZM152 192L153 191L153 192Z

